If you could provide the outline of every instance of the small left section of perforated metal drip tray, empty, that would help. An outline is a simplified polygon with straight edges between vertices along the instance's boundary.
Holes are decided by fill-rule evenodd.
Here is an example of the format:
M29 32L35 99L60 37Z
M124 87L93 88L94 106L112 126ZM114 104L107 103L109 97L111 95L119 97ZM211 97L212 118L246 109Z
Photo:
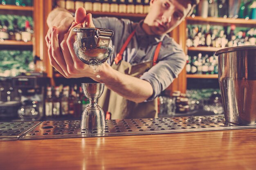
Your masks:
M38 124L40 121L0 122L0 140L17 140Z

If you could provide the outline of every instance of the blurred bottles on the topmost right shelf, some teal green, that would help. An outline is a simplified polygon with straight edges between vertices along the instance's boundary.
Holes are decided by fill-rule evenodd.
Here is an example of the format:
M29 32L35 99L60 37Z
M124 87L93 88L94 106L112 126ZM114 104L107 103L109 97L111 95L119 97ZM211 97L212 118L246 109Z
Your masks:
M256 20L255 0L200 0L193 15ZM192 17L193 17L192 15Z

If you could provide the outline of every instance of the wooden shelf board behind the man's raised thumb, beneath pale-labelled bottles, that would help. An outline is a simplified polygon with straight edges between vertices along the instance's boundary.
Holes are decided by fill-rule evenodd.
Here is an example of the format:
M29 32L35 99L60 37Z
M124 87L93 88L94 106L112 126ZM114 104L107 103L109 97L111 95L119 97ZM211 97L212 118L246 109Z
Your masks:
M74 10L69 10L70 12L75 12ZM94 11L86 11L86 13L91 13L92 16L110 16L117 18L133 18L136 20L142 20L146 17L146 14L139 13L113 13L113 12L94 12Z

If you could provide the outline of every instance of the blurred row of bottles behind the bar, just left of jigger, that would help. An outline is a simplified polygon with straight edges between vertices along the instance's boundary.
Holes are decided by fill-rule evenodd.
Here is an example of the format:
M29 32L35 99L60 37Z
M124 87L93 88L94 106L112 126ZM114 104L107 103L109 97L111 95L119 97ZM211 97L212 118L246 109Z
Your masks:
M83 95L81 86L47 87L45 99L45 117L73 116L81 117L81 114L89 100Z

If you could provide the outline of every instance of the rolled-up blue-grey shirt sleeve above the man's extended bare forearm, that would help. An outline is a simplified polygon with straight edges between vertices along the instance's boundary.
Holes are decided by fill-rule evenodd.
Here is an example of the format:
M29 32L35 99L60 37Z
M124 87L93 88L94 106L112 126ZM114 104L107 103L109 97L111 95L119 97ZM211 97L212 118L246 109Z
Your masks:
M140 79L148 81L153 87L153 95L145 102L155 99L162 91L164 91L185 66L186 58L182 49L177 47L162 48L159 52L161 60L149 71L144 73Z

